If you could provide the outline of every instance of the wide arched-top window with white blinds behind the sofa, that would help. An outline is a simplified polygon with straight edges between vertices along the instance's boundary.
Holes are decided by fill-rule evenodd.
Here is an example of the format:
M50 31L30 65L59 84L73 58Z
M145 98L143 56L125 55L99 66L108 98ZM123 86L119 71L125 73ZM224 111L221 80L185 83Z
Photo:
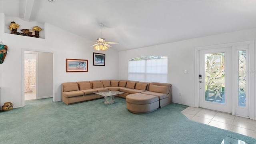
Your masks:
M168 82L168 58L144 56L128 60L128 80Z

